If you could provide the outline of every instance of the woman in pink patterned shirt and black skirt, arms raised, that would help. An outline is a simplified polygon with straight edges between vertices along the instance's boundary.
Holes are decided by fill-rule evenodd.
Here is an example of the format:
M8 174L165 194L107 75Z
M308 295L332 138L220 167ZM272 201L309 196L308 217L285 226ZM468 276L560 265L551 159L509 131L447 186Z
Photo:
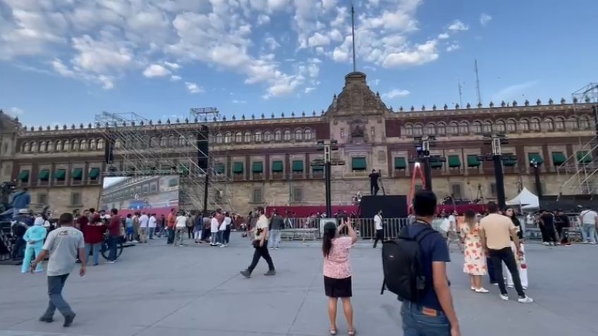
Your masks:
M340 237L343 228L348 229L349 237ZM328 297L328 316L330 318L330 335L336 335L336 306L338 298L343 301L343 311L347 319L348 334L355 335L353 327L353 306L351 306L351 265L349 249L357 242L357 233L347 218L343 223L328 222L324 225L322 236L322 252L324 253L324 290Z

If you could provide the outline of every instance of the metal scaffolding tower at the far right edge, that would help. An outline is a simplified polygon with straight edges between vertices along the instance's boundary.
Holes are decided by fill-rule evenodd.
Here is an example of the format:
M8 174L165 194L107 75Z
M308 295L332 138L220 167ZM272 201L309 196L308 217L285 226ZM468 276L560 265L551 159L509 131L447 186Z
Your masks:
M592 111L590 124L595 130L594 137L585 141L579 135L578 150L557 167L563 177L559 194L598 193L598 83L590 83L571 94L573 113L576 120L588 109ZM585 118L585 117L584 117Z

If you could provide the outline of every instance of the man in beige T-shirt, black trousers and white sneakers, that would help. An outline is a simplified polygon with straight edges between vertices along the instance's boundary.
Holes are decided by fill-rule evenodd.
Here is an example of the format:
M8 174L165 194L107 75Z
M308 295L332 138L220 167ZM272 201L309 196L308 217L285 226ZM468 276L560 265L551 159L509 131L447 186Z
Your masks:
M513 275L513 284L519 296L518 301L522 304L529 304L534 300L525 295L521 279L519 278L515 255L513 255L513 251L511 250L511 239L513 239L517 256L523 256L519 237L517 236L517 229L510 218L497 213L499 208L496 206L496 203L489 202L487 209L489 215L480 220L480 227L482 228L480 234L482 237L482 247L486 249L486 253L492 260L492 266L494 266L494 275L496 275L496 281L499 282L499 289L501 290L500 297L508 301L502 268L502 263L505 263L508 271Z

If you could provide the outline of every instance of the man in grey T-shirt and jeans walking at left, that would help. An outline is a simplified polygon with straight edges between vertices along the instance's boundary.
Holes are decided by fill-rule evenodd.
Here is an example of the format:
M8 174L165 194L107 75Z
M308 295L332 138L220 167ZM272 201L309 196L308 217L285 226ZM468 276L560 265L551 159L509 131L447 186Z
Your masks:
M85 243L83 233L73 228L73 215L63 213L59 218L60 228L49 233L42 252L31 263L31 271L34 272L37 265L49 255L47 265L48 275L48 308L39 321L51 323L54 321L56 309L64 316L63 326L68 327L75 319L75 313L71 306L62 297L62 290L68 275L75 267L77 253L81 259L79 275L85 275Z

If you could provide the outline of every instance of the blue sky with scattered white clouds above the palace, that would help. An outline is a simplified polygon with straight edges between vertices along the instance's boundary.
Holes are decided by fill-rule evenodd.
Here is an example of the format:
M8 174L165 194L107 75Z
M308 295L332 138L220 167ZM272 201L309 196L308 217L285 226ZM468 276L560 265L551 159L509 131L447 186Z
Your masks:
M387 105L555 101L598 81L598 1L355 0L358 70ZM326 109L350 72L348 0L0 0L0 108L184 118Z

